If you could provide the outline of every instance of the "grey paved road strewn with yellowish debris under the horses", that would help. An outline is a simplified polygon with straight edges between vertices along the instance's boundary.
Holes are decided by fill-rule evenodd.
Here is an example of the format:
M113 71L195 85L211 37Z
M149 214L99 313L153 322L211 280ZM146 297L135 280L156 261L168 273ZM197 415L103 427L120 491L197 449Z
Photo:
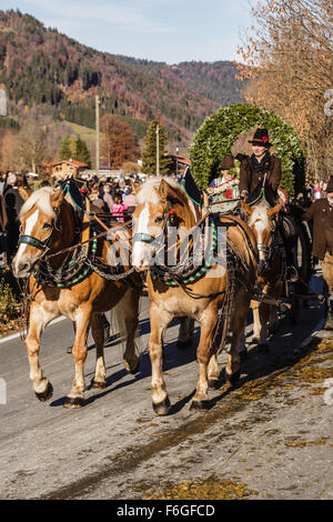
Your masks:
M320 289L319 277L313 284ZM49 403L34 398L20 339L1 343L8 401L0 404L0 498L333 499L333 404L324 400L333 338L314 334L322 317L314 303L297 325L283 317L269 354L250 344L249 327L239 384L223 385L222 353L222 388L211 392L211 410L200 413L190 411L195 342L176 350L175 321L164 344L172 409L163 418L151 408L147 300L140 372L127 374L119 347L109 343L108 387L88 390L81 410L62 408L74 368L65 352L73 337L67 320L42 339L42 368L54 389ZM91 344L87 382L93 368Z

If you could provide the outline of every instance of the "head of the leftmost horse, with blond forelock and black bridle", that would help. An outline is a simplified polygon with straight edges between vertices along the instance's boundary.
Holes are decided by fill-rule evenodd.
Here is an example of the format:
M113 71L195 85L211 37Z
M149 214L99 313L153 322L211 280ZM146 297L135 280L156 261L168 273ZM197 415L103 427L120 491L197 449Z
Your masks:
M17 278L24 278L29 275L47 249L51 248L51 243L60 240L59 214L63 192L51 187L43 187L36 192L19 190L24 204L19 215L21 235L19 249L12 261L12 270Z

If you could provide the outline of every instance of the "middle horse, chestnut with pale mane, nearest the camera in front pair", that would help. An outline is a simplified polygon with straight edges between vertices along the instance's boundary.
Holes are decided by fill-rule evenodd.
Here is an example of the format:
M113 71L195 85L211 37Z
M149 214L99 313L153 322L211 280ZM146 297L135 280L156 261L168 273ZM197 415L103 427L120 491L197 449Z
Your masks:
M137 192L137 199L138 207L133 213L132 265L139 272L147 272L151 325L148 350L152 365L153 410L157 414L164 415L171 408L162 375L162 340L168 324L175 317L196 320L201 325L196 350L199 379L191 408L208 409L210 408L209 387L216 388L220 379L214 337L219 327L219 311L221 313L223 305L226 305L229 310L232 330L225 378L233 384L240 377L239 342L250 307L251 289L256 279L258 251L254 234L238 218L223 217L220 220L222 227L228 227L229 243L246 264L243 272L245 285L240 284L239 280L232 277L233 272L229 267L216 260L212 261L209 267L201 265L194 275L181 278L181 280L178 278L178 282L173 284L173 277L171 281L165 281L157 272L159 267L155 261L161 250L164 254L168 253L164 247L170 231L175 229L179 238L178 244L185 241L189 232L198 227L196 215L191 209L183 188L170 178L147 181ZM178 249L181 255L180 250ZM222 255L222 252L219 251L218 254ZM232 291L229 291L230 284L234 284Z

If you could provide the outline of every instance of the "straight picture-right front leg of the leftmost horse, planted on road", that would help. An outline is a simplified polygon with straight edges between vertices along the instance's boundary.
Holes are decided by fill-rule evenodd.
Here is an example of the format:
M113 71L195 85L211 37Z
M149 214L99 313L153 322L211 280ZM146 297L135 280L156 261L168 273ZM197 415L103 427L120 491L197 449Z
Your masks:
M84 401L84 361L87 358L87 338L91 322L92 312L90 308L79 308L75 313L77 333L72 350L72 355L75 361L75 378L72 389L68 394L64 408L80 408Z

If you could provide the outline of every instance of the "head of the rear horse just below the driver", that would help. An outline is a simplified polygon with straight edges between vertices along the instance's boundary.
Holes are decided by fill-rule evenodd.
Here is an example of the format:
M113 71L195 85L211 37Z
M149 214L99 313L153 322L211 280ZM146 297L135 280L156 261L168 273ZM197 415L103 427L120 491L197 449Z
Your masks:
M273 235L276 228L276 217L283 207L283 202L270 208L266 201L261 201L253 207L242 201L242 207L249 218L248 224L255 234L260 259L259 268L260 271L262 271L263 268L266 267L271 254Z

